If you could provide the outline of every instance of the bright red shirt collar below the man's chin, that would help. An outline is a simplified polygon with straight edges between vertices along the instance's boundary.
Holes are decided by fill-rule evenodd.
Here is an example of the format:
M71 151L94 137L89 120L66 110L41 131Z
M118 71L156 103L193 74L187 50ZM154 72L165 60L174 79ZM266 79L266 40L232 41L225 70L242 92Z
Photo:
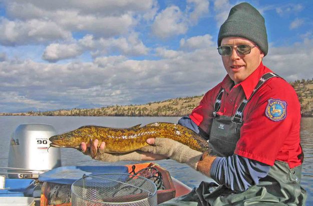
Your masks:
M249 99L260 77L266 72L271 71L266 66L264 66L261 61L260 65L246 79L244 79L240 83L234 85L234 81L231 80L231 78L227 74L223 81L221 82L221 86L225 89L226 92L229 93L232 87L238 87L239 85L241 85L246 98Z

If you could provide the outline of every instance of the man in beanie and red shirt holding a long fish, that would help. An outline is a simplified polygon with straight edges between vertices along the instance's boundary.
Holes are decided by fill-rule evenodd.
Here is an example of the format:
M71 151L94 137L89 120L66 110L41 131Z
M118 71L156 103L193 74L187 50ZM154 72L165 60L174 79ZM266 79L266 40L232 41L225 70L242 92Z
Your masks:
M172 139L156 138L148 139L151 146L123 155L104 153L102 142L95 158L170 157L219 183L201 182L167 205L303 205L300 104L288 82L262 64L267 50L262 15L248 3L231 8L218 34L218 52L227 75L189 116L179 120L208 139L210 151L202 154ZM86 151L85 143L81 147Z

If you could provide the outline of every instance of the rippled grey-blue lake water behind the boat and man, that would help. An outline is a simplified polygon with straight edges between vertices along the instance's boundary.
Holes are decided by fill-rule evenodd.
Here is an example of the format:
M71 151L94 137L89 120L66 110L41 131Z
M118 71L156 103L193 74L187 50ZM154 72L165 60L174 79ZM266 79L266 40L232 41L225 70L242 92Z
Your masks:
M155 121L176 123L180 117L117 117L117 116L0 116L0 166L8 166L9 145L12 132L23 123L51 124L58 133L73 130L79 126L93 124L109 127L129 127ZM301 184L307 191L306 205L313 204L313 118L301 119L301 145L304 150ZM91 159L72 148L61 148L63 166L70 165L108 165L106 162ZM210 181L207 176L195 171L186 164L171 159L154 161L169 170L171 175L190 187L198 186L201 181ZM135 163L131 161L113 164ZM112 164L111 164L112 165ZM1 171L5 171L0 169Z

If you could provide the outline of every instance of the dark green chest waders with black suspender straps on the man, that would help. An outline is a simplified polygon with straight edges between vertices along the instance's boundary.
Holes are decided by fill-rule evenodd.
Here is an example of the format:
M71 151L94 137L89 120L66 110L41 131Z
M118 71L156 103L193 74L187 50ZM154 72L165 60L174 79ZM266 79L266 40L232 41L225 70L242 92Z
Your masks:
M274 73L265 73L258 81L251 96ZM218 115L223 89L220 90L214 104L213 122L209 138L212 155L229 156L234 153L240 138L243 124L242 114L249 99L244 98L234 116ZM257 185L243 192L235 192L225 185L202 181L198 188L189 194L165 202L164 205L304 205L306 191L300 186L301 165L289 168L288 164L276 160L266 177L259 179ZM163 204L162 204L163 205Z

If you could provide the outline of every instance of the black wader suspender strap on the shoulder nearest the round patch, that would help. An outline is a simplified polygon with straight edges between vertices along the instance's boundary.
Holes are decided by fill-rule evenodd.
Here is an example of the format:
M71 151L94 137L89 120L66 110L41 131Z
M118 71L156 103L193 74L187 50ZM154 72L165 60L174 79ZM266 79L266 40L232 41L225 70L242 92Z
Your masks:
M253 94L267 81L268 79L272 77L280 77L275 73L269 72L269 73L264 73L261 78L259 79L258 83L256 84L255 88L253 89L249 99L244 98L239 107L237 108L237 111L235 112L235 115L231 118L231 120L235 123L242 123L242 114L243 114L243 109L247 105L248 101L251 99ZM281 78L281 77L280 77Z

